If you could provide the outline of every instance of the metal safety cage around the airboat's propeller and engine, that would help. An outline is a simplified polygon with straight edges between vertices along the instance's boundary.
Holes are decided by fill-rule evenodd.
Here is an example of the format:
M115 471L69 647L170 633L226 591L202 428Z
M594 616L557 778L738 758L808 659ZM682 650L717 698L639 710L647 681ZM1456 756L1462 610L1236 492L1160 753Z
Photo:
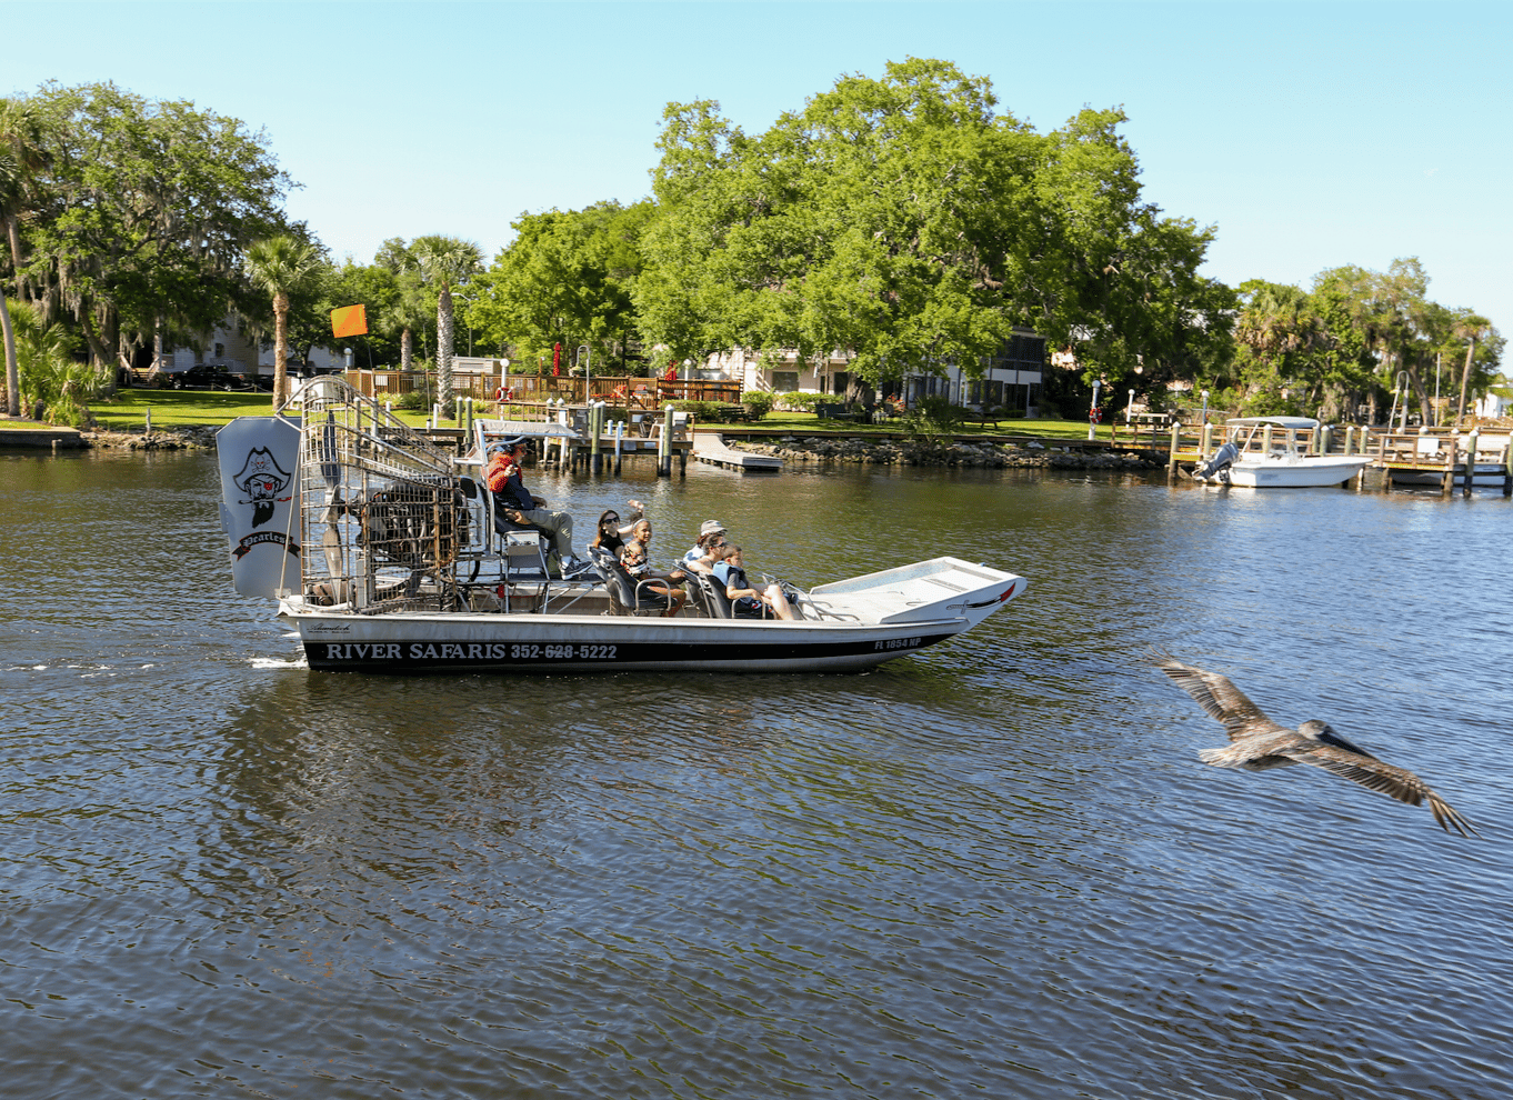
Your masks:
M298 398L306 601L357 614L460 607L477 517L451 457L340 378Z

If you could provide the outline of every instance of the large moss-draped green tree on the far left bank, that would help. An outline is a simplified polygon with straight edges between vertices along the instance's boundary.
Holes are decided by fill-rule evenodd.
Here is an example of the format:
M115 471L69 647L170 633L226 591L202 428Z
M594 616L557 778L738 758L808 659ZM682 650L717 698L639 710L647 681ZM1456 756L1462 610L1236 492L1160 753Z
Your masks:
M29 104L48 162L21 225L23 274L98 362L129 365L154 333L186 339L228 304L253 309L242 253L286 228L290 186L263 135L112 83L44 85Z

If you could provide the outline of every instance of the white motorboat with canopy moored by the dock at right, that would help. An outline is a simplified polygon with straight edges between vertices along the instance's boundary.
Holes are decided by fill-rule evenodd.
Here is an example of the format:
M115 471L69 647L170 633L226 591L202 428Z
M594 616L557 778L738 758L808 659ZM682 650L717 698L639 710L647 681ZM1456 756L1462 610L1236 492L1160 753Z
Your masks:
M1192 471L1195 481L1250 489L1339 486L1371 465L1366 454L1309 454L1298 431L1316 437L1309 416L1236 416L1224 422L1226 442Z

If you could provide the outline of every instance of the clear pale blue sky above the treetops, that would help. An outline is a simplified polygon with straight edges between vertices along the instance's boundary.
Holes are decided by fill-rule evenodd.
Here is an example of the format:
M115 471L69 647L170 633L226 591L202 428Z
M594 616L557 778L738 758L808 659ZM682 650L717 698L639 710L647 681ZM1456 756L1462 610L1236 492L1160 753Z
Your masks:
M943 57L1039 130L1123 106L1204 271L1307 284L1418 256L1513 331L1513 5L9 3L0 94L113 80L266 130L336 257L649 192L669 101L760 132L846 73Z

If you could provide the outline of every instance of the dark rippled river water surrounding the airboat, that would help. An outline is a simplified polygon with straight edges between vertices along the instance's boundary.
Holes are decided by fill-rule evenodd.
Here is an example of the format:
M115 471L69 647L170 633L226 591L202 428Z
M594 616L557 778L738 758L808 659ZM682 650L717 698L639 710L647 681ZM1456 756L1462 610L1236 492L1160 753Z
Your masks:
M1499 496L531 484L581 531L642 496L663 561L717 516L753 573L1032 587L867 675L312 673L210 458L0 457L0 1094L1513 1091ZM1153 643L1481 838L1201 766Z

